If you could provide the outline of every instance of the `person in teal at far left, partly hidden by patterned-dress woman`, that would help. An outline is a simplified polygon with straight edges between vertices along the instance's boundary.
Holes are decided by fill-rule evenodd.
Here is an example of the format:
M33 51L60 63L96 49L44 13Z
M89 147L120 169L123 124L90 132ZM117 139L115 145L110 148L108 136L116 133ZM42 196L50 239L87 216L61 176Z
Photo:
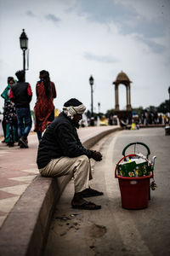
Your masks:
M7 123L6 123L6 120L4 119L4 112L5 112L5 102L8 101L8 91L10 90L10 84L9 84L10 79L13 79L13 77L8 77L7 79L8 85L5 88L5 90L3 90L3 93L1 94L1 96L4 99L3 122L2 122L4 140L2 141L2 143L8 143L8 137L9 137L9 131L7 132Z

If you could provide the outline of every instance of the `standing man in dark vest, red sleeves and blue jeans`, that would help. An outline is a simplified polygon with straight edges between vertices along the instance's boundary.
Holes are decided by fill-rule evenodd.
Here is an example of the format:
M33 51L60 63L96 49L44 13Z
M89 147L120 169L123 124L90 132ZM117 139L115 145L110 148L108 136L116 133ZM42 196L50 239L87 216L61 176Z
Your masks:
M9 98L15 103L16 107L20 148L28 148L27 137L32 125L30 111L31 85L25 82L24 70L18 71L15 75L18 83L11 87Z

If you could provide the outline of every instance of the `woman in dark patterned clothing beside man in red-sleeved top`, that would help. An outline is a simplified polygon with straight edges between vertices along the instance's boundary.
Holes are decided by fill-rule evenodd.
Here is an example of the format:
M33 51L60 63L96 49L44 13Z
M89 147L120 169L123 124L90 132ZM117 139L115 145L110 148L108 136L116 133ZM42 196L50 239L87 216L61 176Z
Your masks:
M11 78L9 80L10 88L15 84L14 78ZM9 95L10 90L8 90ZM10 101L8 98L7 101L5 101L5 107L4 107L4 119L6 124L8 125L9 129L9 141L7 143L8 147L14 147L14 132L16 128L16 109L14 102Z

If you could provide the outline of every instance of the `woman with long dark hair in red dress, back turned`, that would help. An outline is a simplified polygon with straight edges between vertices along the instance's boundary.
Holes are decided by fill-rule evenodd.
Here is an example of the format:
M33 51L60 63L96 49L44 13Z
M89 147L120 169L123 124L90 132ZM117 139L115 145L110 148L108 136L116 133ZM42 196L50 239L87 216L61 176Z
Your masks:
M40 72L40 81L36 85L37 102L34 107L35 129L40 141L42 132L47 125L54 120L54 98L56 97L55 85L50 81L49 73L45 70Z

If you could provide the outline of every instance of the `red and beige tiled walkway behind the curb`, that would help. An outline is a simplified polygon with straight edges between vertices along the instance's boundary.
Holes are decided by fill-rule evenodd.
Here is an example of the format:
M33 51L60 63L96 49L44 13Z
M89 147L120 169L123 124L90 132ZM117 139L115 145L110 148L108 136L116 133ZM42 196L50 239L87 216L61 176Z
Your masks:
M99 133L112 129L113 126L86 127L80 128L78 134L84 143ZM0 227L39 173L36 164L37 134L31 132L28 142L29 148L20 148L17 144L14 148L8 148L5 143L0 143Z

